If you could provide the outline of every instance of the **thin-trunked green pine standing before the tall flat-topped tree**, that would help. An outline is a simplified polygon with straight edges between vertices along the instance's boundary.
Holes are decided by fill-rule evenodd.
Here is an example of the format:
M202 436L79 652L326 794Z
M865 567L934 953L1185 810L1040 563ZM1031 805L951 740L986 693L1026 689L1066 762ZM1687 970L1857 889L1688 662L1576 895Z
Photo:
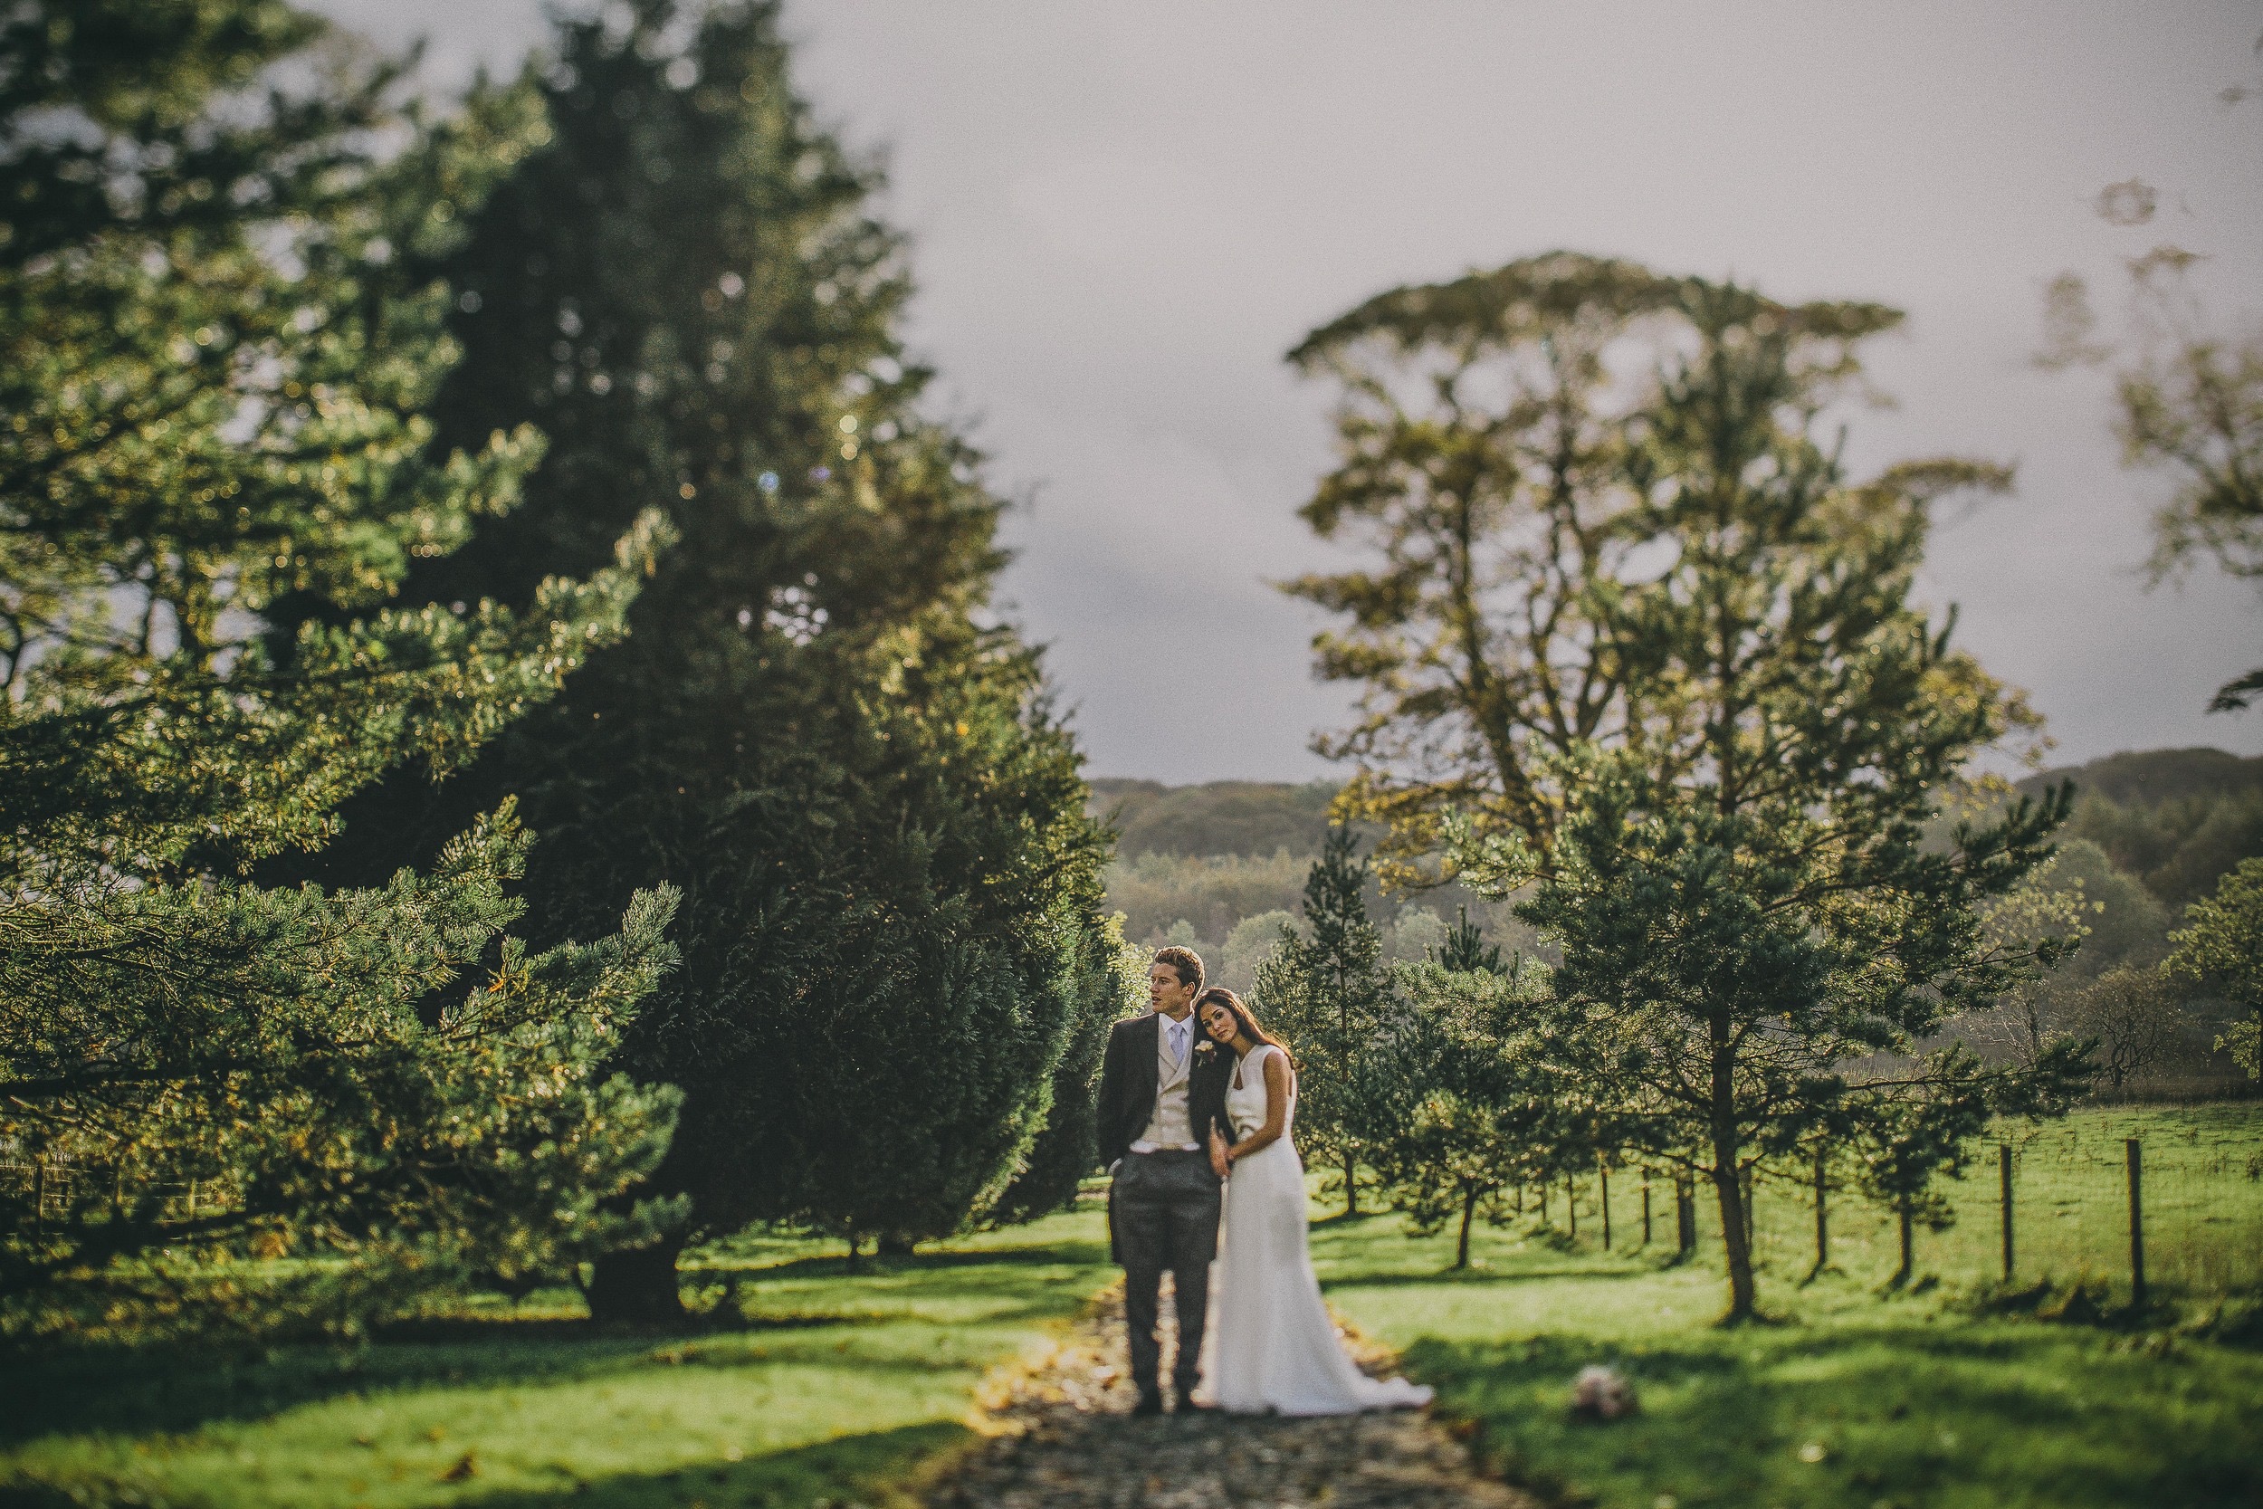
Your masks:
M1466 860L1494 889L1537 878L1518 914L1564 952L1561 1070L1713 1185L1729 1314L1747 1317L1745 1156L1887 1115L1914 1077L1894 1063L2055 957L2048 939L1991 946L1980 905L2046 857L2066 794L1926 842L2021 706L1910 602L1928 502L2003 475L1937 462L1858 486L1813 437L1853 346L1896 314L1704 281L1681 308L1693 348L1627 455L1672 557L1600 611L1641 722L1566 760L1552 846L1473 837ZM2039 1104L2075 1059L1953 1068Z

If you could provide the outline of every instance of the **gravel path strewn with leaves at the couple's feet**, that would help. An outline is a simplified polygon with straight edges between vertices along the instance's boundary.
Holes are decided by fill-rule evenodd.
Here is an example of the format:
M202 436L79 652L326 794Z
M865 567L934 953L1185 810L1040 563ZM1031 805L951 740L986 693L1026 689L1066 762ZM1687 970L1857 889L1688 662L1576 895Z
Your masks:
M1163 1305L1170 1376L1170 1303ZM1353 1339L1369 1371L1389 1362ZM1333 1419L1172 1414L1132 1419L1122 1290L1034 1364L996 1373L991 1439L937 1480L930 1509L1532 1509L1478 1477L1428 1412Z

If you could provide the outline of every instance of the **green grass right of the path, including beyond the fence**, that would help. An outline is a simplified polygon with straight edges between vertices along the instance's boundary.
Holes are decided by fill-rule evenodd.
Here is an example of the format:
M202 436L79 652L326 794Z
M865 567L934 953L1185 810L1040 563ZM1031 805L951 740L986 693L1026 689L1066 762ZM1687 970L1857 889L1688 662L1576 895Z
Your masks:
M2263 1106L2086 1111L2053 1131L2080 1147L2109 1142L2118 1165L2120 1136L2143 1136L2148 1158L2157 1145L2206 1149L2234 1131L2256 1147ZM2123 1199L2084 1158L2030 1158L2037 1210ZM2222 1174L2215 1210L2252 1222L2245 1156ZM1801 1283L1813 1265L1813 1206L1795 1208L1786 1190L1774 1201L1781 1228L1763 1249L1761 1303L1772 1321L1722 1330L1713 1326L1727 1301L1718 1226L1704 1228L1693 1265L1661 1267L1670 1201L1657 1204L1654 1242L1641 1253L1629 1251L1641 1235L1638 1201L1632 1192L1625 1206L1620 1199L1614 1188L1614 1253L1602 1253L1589 1208L1573 1247L1530 1231L1482 1233L1466 1274L1444 1271L1451 1235L1408 1240L1392 1219L1322 1224L1315 1258L1335 1305L1401 1346L1410 1373L1439 1387L1442 1409L1473 1423L1487 1457L1550 1502L2263 1504L2263 1335L2252 1326L2243 1344L2229 1344L2179 1330L2179 1314L2125 1326L1989 1317L1969 1305L1969 1287L1924 1283L1937 1271L1928 1260L1946 1265L1951 1278L1991 1271L1994 1206L1982 1231L1921 1235L1919 1292L1881 1294L1894 1267L1890 1228L1842 1197L1833 1210L1842 1233L1835 1271ZM1552 1215L1561 1224L1561 1199ZM1767 1231L1767 1204L1761 1215ZM2025 1204L2014 1219L2030 1219ZM2120 1231L2125 1258L2125 1222ZM2150 1267L2206 1271L2179 1253L2179 1231L2220 1240L2200 1224L2163 1222ZM2100 1240L2098 1262L2055 1271L2107 1271L2111 1253L2111 1240ZM2050 1256L2043 1247L2025 1276L2050 1269ZM2206 1312L2191 1294L2182 1319ZM1636 1416L1593 1423L1571 1414L1571 1380L1591 1362L1636 1382Z

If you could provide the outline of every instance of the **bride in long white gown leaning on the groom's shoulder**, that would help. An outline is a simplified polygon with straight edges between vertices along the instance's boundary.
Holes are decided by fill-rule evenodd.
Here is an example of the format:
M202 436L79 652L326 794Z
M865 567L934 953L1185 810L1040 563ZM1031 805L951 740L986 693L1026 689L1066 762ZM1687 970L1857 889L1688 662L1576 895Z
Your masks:
M1430 1403L1426 1387L1360 1373L1319 1299L1303 1228L1303 1158L1288 1136L1297 1070L1281 1038L1227 989L1204 991L1195 1016L1238 1059L1227 1090L1236 1140L1229 1147L1211 1131L1211 1167L1227 1181L1202 1366L1211 1405L1236 1414L1353 1414Z

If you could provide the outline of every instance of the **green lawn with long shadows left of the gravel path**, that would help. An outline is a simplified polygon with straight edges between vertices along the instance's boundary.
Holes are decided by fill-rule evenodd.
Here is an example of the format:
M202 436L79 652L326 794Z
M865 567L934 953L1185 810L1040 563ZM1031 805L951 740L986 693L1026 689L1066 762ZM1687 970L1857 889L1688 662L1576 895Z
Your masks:
M670 1335L600 1335L539 1294L358 1348L18 1360L0 1376L0 1504L871 1498L966 1439L982 1373L1075 1314L1104 1265L1089 1213L867 1274L837 1244L742 1242L704 1253L688 1296L720 1301L738 1271L745 1319Z

